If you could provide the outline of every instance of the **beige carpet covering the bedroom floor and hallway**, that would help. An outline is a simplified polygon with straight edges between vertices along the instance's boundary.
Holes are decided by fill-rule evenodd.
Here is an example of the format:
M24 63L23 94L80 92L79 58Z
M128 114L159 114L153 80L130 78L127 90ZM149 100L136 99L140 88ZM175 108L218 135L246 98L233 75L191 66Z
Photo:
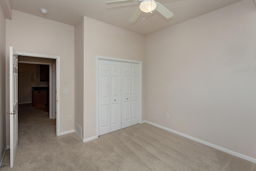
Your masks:
M8 150L1 171L256 171L255 163L149 124L82 143L75 133L56 137L47 112L28 105L19 111L15 164L10 169Z

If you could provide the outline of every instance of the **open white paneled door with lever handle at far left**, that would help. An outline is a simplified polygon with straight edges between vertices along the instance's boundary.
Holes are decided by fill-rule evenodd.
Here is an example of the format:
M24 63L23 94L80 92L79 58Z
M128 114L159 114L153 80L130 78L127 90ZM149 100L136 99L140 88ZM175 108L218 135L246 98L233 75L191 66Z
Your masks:
M18 55L10 47L10 167L18 149Z

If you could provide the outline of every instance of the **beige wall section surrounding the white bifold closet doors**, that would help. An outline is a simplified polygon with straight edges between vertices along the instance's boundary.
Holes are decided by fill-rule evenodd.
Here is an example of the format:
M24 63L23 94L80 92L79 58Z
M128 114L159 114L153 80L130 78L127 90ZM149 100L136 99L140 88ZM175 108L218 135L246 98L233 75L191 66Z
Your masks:
M84 139L96 136L96 55L142 61L144 69L145 36L84 17Z

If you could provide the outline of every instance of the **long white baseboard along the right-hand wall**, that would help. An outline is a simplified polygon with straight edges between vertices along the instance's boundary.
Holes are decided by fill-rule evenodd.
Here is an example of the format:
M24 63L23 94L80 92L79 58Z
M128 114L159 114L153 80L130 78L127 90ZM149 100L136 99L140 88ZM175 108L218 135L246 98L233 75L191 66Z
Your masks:
M246 155L237 153L237 152L235 152L235 151L231 151L231 150L229 150L229 149L220 147L220 146L218 146L218 145L214 145L214 144L212 144L212 143L205 142L205 141L200 140L200 139L198 139L198 138L194 138L194 137L192 137L192 136L188 136L188 135L186 135L186 134L180 133L180 132L178 132L178 131L171 130L171 129L166 128L166 127L164 127L164 126L160 126L160 125L158 125L158 124L154 124L154 123L148 122L148 121L146 121L146 120L142 121L141 123L142 123L142 124L143 124L143 123L147 123L147 124L156 126L156 127L158 127L158 128L162 128L163 130L172 132L172 133L174 133L174 134L178 134L178 135L180 135L180 136L182 136L182 137L186 137L186 138L188 138L188 139L190 139L190 140L194 140L194 141L199 142L199 143L202 143L202 144L204 144L204 145L208 145L208 146L210 146L210 147L216 148L216 149L218 149L218 150L220 150L220 151L224 151L224 152L226 152L226 153L232 154L232 155L234 155L234 156L236 156L236 157L240 157L240 158L242 158L242 159L245 159L245 160L251 161L251 162L253 162L253 163L256 163L256 159L254 159L254 158L252 158L252 157L248 157L248 156L246 156Z

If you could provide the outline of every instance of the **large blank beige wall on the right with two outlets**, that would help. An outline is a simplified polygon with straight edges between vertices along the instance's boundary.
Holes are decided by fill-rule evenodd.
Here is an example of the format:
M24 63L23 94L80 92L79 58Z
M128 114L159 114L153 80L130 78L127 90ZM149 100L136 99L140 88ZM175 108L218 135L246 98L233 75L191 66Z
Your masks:
M256 159L255 21L243 0L146 36L146 120Z

